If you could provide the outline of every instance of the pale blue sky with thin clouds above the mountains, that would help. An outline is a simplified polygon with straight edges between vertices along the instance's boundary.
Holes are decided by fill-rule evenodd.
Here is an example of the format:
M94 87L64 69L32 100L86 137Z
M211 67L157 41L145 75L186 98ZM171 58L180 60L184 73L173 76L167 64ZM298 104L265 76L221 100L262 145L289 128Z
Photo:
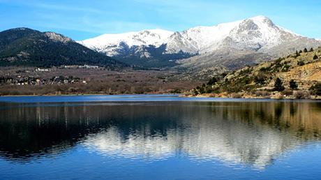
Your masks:
M181 31L264 15L281 27L321 38L320 0L0 0L0 31L29 27L75 40L142 29Z

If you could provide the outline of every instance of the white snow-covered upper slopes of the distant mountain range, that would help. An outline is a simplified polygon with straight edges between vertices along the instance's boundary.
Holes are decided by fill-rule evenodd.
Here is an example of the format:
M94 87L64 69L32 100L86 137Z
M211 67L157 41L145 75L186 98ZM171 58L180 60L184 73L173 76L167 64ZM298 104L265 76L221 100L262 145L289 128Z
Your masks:
M244 41L245 36L252 36L248 39L253 41L255 48L257 43L270 42L276 45L281 36L281 33L278 33L280 30L283 29L279 29L268 17L259 15L213 27L193 27L181 32L148 29L129 33L103 34L79 43L110 56L119 55L120 51L127 48L126 45L130 48L141 45L159 47L163 44L167 45L165 54L177 52L197 54L217 50L224 45L227 37Z

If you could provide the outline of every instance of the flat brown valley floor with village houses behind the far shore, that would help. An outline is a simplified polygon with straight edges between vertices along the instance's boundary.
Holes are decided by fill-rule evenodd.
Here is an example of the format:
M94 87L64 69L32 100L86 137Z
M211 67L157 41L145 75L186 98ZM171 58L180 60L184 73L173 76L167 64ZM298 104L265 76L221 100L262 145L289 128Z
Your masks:
M181 93L204 82L171 70L0 68L0 95Z

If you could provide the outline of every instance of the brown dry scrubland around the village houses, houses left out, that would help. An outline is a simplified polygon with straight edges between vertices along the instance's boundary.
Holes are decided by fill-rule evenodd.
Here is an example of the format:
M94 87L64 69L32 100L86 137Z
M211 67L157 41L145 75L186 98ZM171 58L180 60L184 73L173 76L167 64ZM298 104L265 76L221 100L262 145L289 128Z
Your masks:
M19 73L17 73L17 71ZM27 72L24 72L27 70ZM21 72L22 71L22 72ZM171 93L188 91L202 84L197 81L184 81L170 71L131 70L124 72L103 69L51 69L49 72L36 72L34 68L2 68L1 75L33 76L51 78L53 76L80 77L87 84L43 84L43 85L0 85L0 95L47 95L47 94L124 94L124 93Z

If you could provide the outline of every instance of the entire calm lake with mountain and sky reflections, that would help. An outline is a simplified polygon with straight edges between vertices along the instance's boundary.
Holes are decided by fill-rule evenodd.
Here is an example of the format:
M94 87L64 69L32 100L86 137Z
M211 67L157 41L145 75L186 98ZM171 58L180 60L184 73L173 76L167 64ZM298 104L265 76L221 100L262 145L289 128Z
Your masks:
M0 97L0 179L320 179L321 101Z

